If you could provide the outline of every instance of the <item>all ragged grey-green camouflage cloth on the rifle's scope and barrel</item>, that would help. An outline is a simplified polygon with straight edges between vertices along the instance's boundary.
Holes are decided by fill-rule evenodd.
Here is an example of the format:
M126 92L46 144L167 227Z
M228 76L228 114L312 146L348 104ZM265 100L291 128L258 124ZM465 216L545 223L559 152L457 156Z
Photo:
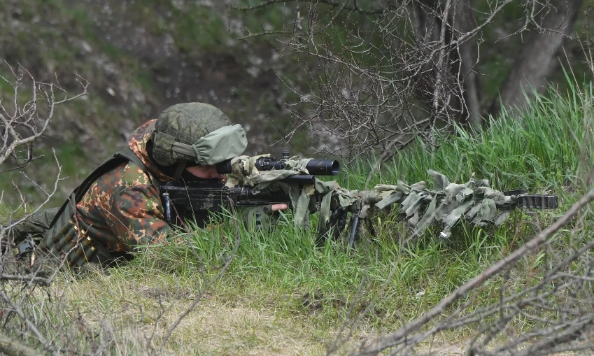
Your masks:
M309 174L305 168L307 159L292 158L285 169L258 171L255 160L260 157L238 157L232 162L233 173L227 185L248 184L258 189L284 190L292 201L294 223L309 227L309 213L318 212L318 232L325 234L336 223L333 215L348 212L371 227L374 214L387 213L393 208L400 212L399 218L406 220L413 229L413 236L421 234L434 222L442 222L444 229L440 236L450 236L451 228L462 218L472 225L500 225L514 210L514 197L489 187L488 180L471 178L465 184L450 183L449 179L436 171L428 171L434 180L432 189L424 181L407 185L376 185L373 190L346 190L335 181L315 183L299 189L298 185L284 183L283 178L296 174Z

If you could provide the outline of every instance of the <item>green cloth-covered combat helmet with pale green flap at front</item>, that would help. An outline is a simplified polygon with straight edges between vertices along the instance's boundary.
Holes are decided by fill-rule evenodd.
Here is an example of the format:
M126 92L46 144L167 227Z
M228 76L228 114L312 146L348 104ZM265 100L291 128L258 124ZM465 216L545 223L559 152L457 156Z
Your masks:
M151 139L155 162L178 165L176 179L187 165L217 164L241 155L248 145L240 124L231 124L222 111L204 103L167 108L157 118Z

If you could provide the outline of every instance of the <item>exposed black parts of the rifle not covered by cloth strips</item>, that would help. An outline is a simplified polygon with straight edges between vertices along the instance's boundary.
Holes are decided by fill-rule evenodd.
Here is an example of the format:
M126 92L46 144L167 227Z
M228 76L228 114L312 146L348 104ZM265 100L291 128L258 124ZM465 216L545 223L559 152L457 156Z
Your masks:
M288 152L283 152L283 159L276 160L274 157L260 157L255 162L255 167L259 171L269 171L276 169L285 169ZM231 173L231 160L221 162L216 165L217 172L220 174ZM297 185L299 190L305 185L313 185L315 178L313 174L323 176L336 176L339 174L340 166L337 161L326 159L311 159L306 169L310 174L296 174L281 180L289 185ZM524 189L510 190L503 192L506 201L500 204L498 208L536 208L553 209L558 207L558 197L556 195L529 195ZM205 227L210 220L210 213L222 213L229 211L231 206L234 208L249 208L254 206L266 206L269 204L287 204L292 208L289 194L284 190L269 190L250 187L249 185L239 185L236 187L226 187L220 180L176 180L168 182L161 187L161 198L164 206L164 215L167 222L171 225L183 227L185 220L194 220L199 227ZM473 199L483 199L483 197L473 197ZM424 199L420 211L425 211L431 199ZM330 216L330 227L334 228L334 235L340 234L346 226L347 211L340 207L332 208ZM360 209L360 208L359 208ZM359 213L351 213L351 236L349 245L353 247L354 241L358 239L359 233ZM475 212L476 213L476 212ZM372 222L365 220L369 231L374 234ZM320 232L325 234L325 232ZM336 236L334 236L336 237Z

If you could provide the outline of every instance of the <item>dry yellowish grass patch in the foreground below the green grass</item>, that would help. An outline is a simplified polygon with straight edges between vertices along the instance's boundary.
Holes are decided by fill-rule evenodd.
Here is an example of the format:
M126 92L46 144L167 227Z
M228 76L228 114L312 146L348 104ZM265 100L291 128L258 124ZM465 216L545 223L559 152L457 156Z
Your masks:
M71 306L71 315L83 315L90 327L111 329L119 336L116 347L148 353L150 336L158 348L167 330L192 303L197 292L171 285L165 276L130 280L120 273L99 271L54 286ZM255 308L241 299L207 295L172 334L167 355L323 355L325 342L302 318L278 318L274 306ZM127 346L125 346L127 344Z

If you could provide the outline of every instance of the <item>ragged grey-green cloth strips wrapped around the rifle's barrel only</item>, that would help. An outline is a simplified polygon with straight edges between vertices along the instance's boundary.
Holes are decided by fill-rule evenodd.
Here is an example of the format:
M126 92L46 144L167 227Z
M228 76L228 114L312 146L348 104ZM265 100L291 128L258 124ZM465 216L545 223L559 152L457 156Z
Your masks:
M428 173L434 179L433 189L427 188L424 181L413 185L398 181L397 185L376 185L374 190L316 190L323 194L320 233L330 228L330 211L337 208L358 214L358 218L367 222L367 227L371 226L375 213L387 213L397 208L399 217L413 229L413 236L439 221L444 225L442 238L449 237L451 228L462 218L481 227L498 226L514 210L514 197L491 189L488 180L471 178L460 185L450 183L446 176L436 171Z

